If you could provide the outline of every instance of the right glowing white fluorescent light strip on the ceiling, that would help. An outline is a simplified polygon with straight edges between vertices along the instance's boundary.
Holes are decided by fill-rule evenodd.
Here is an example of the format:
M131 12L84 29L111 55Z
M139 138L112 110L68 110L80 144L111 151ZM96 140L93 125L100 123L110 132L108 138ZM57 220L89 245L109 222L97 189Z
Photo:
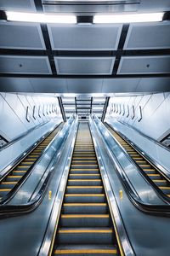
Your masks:
M94 15L94 23L133 23L162 21L164 13L132 15Z

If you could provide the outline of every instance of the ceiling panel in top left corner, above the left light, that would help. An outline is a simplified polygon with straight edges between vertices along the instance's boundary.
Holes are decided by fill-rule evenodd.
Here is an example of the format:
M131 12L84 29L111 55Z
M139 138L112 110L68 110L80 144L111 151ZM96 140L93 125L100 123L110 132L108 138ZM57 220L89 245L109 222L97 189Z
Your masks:
M32 0L1 0L0 9L4 10L36 10L34 1Z

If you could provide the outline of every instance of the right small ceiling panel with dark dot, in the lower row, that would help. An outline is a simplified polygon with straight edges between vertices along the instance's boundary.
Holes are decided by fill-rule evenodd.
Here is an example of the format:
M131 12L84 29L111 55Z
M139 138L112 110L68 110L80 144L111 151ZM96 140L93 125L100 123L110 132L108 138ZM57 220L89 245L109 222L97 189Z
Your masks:
M170 73L170 56L122 57L118 74Z

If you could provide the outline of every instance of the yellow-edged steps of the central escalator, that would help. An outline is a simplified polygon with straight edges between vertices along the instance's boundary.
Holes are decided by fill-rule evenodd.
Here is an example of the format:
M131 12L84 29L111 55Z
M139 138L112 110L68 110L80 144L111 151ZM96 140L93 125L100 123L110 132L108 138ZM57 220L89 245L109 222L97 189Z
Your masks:
M80 123L54 255L120 255L88 123Z

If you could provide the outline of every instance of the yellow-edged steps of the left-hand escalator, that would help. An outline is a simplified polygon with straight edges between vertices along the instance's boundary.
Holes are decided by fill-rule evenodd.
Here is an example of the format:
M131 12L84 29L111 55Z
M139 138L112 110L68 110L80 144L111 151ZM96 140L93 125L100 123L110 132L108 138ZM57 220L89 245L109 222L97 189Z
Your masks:
M19 183L24 180L31 167L36 163L43 150L48 146L48 144L53 140L56 134L62 127L62 123L58 125L54 131L52 131L48 137L44 137L41 143L35 144L35 148L27 154L24 159L14 166L8 174L0 180L0 200L3 201L4 198L12 193L12 191L19 185Z

